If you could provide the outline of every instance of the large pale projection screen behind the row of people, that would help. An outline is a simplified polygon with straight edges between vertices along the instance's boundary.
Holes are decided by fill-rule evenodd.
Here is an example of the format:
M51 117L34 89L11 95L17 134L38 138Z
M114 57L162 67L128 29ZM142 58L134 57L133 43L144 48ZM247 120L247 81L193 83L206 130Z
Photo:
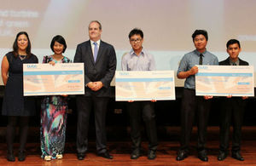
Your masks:
M254 0L9 0L0 6L0 60L12 50L15 35L27 31L32 53L42 62L55 35L65 37L64 55L73 60L77 44L88 40L90 20L102 23L102 40L111 43L121 57L131 50L132 28L144 32L143 48L154 54L157 70L174 70L183 54L195 49L192 33L208 31L207 50L228 57L225 43L241 41L243 60L256 65L256 1ZM256 82L255 82L256 83ZM2 79L1 84L3 85ZM176 86L183 80L176 79Z

